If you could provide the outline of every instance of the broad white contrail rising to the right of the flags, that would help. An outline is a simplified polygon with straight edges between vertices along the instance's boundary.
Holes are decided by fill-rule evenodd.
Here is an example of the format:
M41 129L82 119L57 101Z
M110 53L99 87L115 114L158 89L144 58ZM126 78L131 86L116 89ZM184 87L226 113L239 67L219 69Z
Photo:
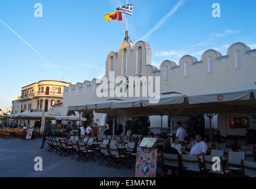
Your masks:
M164 18L160 19L160 21L158 21L158 23L145 35L143 35L140 40L145 40L146 38L149 37L149 35L152 34L152 32L156 31L159 27L161 27L161 25L165 24L165 22L167 21L167 19L174 14L178 8L180 8L182 5L184 5L185 1L184 0L180 0L178 1L178 3L174 6L174 8L171 9L171 11L168 12L167 15L164 16ZM140 41L139 40L139 41Z

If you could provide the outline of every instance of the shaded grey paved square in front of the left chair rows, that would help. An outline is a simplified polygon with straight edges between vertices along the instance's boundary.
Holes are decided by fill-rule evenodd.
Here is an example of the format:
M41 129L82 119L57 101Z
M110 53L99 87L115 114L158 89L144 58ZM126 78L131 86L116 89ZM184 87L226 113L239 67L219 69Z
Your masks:
M41 139L23 140L20 138L0 138L0 177L134 177L135 168L127 168L121 165L119 170L115 165L106 167L106 163L100 165L101 159L95 157L79 162L72 155L59 156L39 149ZM43 159L43 171L35 171L37 163L34 158ZM84 162L85 161L85 162Z

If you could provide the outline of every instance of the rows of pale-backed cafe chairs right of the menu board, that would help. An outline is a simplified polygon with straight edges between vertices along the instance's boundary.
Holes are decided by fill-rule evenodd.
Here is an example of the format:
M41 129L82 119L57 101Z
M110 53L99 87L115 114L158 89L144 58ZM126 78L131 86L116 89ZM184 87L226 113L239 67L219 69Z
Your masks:
M187 146L190 141L185 141ZM256 144L247 144L245 139L226 139L221 143L207 142L207 154L189 155L187 147L180 154L162 153L162 167L172 170L171 176L183 177L256 177ZM216 157L220 160L218 170ZM169 176L169 175L165 175Z

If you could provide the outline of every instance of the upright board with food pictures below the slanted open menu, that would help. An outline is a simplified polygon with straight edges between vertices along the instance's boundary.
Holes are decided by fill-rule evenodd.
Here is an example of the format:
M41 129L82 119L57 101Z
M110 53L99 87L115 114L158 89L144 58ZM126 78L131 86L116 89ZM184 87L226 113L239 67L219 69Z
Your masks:
M157 148L137 147L135 177L156 177Z

